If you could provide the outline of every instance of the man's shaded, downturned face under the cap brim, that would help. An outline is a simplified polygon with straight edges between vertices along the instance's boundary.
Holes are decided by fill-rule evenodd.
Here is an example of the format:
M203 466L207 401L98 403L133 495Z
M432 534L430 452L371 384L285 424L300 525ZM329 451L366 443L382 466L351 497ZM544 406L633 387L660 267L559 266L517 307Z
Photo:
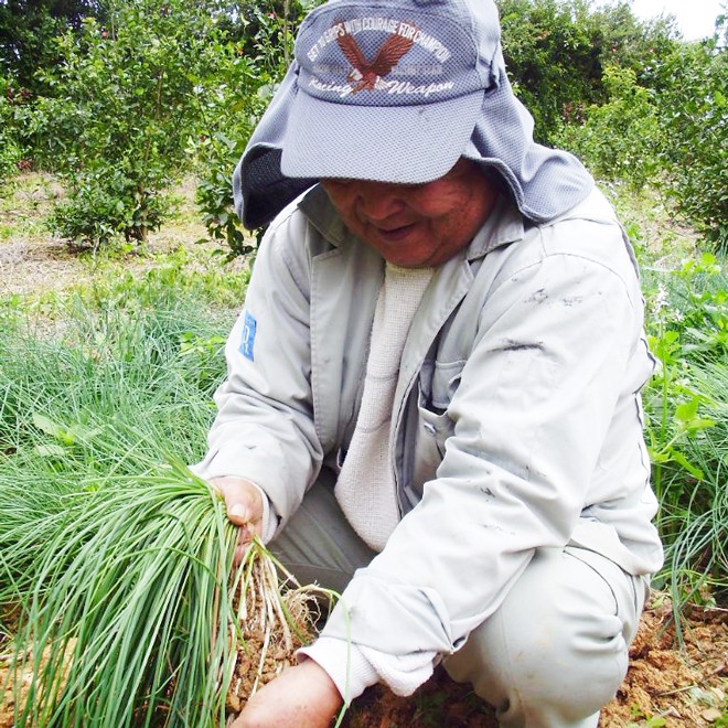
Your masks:
M465 248L488 218L496 191L467 159L425 184L322 180L342 220L389 263L437 266Z

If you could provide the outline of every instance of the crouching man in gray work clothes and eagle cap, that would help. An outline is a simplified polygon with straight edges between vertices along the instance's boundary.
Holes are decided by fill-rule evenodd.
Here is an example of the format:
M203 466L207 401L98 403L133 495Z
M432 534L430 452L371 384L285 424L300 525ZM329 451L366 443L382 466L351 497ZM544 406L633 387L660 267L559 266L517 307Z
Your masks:
M275 220L199 472L239 549L343 591L235 725L326 726L443 662L502 726L596 726L662 563L652 360L629 243L533 142L492 1L314 10L235 192Z

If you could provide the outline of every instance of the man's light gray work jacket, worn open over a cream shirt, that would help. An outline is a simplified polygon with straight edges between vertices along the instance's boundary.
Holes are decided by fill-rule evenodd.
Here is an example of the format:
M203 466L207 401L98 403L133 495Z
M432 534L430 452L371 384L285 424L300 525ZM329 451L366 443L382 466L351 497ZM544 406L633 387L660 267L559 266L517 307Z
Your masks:
M257 483L269 533L345 454L383 270L320 188L261 245L199 472ZM639 395L652 368L633 256L603 196L542 225L503 201L415 315L390 441L403 520L320 642L351 639L407 693L539 546L660 568Z

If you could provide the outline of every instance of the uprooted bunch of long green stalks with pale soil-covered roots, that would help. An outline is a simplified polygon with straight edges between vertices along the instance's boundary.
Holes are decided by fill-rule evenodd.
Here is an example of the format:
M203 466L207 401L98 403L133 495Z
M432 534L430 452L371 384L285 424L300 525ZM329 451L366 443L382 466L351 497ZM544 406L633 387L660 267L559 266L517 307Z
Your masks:
M183 465L71 500L38 544L17 725L224 726L307 640L304 590L283 601L257 542L232 574L235 527Z

